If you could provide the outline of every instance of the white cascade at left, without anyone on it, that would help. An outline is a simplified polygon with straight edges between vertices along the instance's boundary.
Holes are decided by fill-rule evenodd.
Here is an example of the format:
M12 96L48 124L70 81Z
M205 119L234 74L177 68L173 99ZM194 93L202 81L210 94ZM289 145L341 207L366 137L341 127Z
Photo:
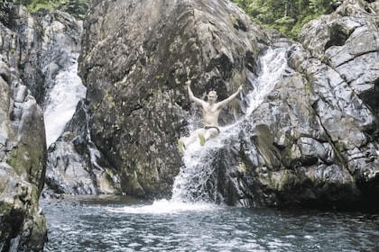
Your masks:
M73 64L62 68L55 76L54 85L46 96L43 117L47 147L60 137L74 114L77 103L86 96L87 88L78 76L77 58L78 56L73 57Z

